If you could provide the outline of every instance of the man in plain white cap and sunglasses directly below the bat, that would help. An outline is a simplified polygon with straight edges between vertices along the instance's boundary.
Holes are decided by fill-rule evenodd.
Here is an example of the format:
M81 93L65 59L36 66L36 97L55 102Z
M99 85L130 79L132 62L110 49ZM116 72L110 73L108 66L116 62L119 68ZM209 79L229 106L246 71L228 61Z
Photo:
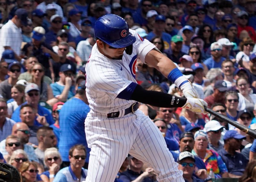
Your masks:
M220 143L221 133L225 127L220 125L219 121L210 120L204 126L204 131L208 136L208 147L214 151L223 149L223 145Z

